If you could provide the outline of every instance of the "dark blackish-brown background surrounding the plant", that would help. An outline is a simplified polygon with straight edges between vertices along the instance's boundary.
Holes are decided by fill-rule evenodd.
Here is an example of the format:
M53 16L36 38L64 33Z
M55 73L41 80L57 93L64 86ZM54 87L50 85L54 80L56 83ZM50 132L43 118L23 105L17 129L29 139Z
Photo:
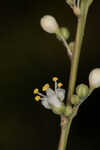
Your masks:
M57 75L67 89L69 60L62 43L40 27L50 14L67 26L74 39L76 18L64 0L0 1L0 150L56 150L59 117L36 103L35 87ZM79 64L79 83L100 67L100 1L91 6ZM53 84L52 84L53 85ZM74 119L68 149L100 149L100 89L81 106Z

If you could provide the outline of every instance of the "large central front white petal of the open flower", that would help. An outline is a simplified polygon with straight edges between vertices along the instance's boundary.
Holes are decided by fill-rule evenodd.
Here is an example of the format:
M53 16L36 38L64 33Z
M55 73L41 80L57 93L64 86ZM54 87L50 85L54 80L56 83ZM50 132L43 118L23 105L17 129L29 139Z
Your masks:
M61 107L62 103L59 101L56 95L48 97L48 103L54 107Z

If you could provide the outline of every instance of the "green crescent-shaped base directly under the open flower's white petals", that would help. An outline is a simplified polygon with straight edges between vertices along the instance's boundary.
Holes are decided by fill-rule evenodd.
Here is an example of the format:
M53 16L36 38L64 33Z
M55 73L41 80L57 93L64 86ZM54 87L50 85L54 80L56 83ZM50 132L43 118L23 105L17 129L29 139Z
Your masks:
M62 105L60 107L55 107L55 106L51 105L51 109L55 114L61 115L65 111L65 105L64 105L64 103L62 103Z

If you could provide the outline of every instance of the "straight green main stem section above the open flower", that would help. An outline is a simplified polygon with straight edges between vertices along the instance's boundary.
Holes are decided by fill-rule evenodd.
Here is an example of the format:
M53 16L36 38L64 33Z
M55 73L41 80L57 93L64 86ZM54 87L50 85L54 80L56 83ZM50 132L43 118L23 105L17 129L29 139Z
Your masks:
M84 5L84 3L82 3L82 2L81 2L81 16L78 17L77 32L76 32L76 38L75 38L75 47L74 47L74 52L73 52L73 56L72 56L67 104L70 104L70 99L71 99L71 96L73 95L73 92L75 89L78 64L79 64L79 58L80 58L80 51L81 51L82 42L83 42L86 17L87 17L87 13L88 13L88 6L86 4Z

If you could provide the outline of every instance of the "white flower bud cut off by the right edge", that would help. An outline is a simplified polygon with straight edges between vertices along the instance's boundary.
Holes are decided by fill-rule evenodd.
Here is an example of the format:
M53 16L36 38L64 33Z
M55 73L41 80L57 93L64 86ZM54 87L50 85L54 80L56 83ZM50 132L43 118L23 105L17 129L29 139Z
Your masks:
M90 88L100 87L100 68L93 69L89 74Z

